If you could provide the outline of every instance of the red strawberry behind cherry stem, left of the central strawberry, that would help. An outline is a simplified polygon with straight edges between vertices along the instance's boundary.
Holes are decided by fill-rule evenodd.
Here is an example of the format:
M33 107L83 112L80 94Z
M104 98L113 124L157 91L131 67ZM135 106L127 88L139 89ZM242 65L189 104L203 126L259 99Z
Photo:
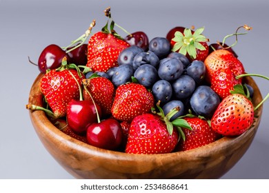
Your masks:
M105 77L93 77L83 79L83 85L86 85L94 101L101 107L103 114L111 114L114 99L114 85L112 82ZM83 90L83 97L86 100L92 100L86 90Z

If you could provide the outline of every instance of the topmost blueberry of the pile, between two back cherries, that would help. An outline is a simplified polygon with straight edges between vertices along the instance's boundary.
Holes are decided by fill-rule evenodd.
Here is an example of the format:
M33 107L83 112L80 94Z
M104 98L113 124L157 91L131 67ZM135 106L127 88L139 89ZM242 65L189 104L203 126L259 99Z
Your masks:
M148 50L155 52L157 57L162 59L170 53L170 42L164 37L155 37L150 41Z

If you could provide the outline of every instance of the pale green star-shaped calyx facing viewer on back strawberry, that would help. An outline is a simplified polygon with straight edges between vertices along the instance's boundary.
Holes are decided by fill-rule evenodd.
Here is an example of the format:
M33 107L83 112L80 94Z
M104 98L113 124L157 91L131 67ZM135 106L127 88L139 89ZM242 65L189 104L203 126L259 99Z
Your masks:
M172 41L175 41L175 45L172 48L173 52L178 52L186 55L187 53L190 55L192 59L196 59L197 50L206 50L206 48L200 42L206 42L206 39L203 34L204 28L198 28L193 32L189 28L186 28L183 34L179 31L175 32L175 37ZM197 49L197 50L196 50Z

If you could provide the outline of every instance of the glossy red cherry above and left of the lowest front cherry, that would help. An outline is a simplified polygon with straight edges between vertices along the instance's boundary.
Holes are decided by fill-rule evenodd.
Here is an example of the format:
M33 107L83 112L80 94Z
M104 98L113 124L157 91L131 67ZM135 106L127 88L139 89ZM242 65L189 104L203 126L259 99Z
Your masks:
M101 117L101 108L95 104ZM69 127L76 133L86 132L89 124L97 123L97 111L90 100L72 100L67 105L66 119Z

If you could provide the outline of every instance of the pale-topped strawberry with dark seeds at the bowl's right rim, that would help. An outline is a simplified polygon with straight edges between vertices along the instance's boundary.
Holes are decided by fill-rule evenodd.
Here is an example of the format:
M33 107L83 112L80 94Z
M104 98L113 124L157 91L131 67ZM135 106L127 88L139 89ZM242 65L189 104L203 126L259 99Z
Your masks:
M212 116L212 130L224 136L246 132L254 121L252 103L243 94L230 94L219 104Z

